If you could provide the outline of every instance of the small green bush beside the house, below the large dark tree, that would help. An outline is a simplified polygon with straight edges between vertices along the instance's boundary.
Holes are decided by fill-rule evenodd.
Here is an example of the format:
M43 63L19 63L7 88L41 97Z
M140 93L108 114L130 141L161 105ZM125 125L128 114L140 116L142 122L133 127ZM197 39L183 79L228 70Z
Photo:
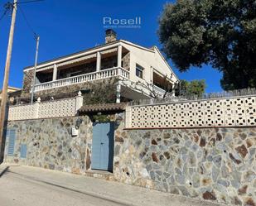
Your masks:
M179 93L179 89L176 92L179 95L183 96L194 96L196 97L202 97L202 95L205 93L205 79L200 80L192 80L191 82L188 82L186 80L181 80L181 93Z

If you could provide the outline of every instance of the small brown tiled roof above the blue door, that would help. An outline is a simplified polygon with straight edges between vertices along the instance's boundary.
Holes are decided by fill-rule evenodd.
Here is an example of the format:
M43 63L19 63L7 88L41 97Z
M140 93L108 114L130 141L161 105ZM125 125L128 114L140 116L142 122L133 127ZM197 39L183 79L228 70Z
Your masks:
M98 113L110 111L123 111L128 103L100 103L84 105L80 108L79 113Z

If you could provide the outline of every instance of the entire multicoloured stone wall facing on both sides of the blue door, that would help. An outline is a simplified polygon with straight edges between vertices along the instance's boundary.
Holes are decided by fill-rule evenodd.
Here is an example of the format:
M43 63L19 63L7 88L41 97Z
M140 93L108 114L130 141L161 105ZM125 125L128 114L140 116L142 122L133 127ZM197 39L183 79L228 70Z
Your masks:
M88 172L89 117L82 117L78 137L70 135L76 118L8 122L8 128L17 130L17 144L15 155L5 156L5 161L105 177L196 199L256 205L255 127L123 130L122 122L115 131L113 175L104 176ZM21 143L27 143L27 159L19 156Z

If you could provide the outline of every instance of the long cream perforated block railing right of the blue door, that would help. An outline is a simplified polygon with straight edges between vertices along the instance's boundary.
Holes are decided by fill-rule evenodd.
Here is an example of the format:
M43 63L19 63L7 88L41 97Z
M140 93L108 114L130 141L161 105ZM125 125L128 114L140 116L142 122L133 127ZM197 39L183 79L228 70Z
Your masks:
M256 127L256 95L126 108L127 128Z

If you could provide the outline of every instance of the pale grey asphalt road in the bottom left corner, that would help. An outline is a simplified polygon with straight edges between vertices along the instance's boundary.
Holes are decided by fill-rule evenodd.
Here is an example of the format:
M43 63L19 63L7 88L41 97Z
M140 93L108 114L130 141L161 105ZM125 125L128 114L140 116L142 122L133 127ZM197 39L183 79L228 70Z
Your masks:
M5 172L0 177L1 206L120 206L116 202L82 194L22 175Z

